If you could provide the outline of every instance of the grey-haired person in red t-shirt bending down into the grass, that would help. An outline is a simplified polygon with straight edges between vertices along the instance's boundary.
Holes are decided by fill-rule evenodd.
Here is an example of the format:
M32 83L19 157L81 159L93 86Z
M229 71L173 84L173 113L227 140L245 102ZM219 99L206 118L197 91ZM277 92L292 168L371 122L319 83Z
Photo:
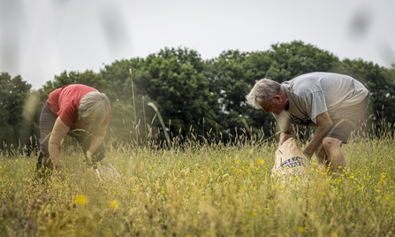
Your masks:
M61 171L59 146L74 137L88 158L105 163L103 141L110 122L110 100L95 88L73 84L49 94L40 116L41 147L36 172Z

